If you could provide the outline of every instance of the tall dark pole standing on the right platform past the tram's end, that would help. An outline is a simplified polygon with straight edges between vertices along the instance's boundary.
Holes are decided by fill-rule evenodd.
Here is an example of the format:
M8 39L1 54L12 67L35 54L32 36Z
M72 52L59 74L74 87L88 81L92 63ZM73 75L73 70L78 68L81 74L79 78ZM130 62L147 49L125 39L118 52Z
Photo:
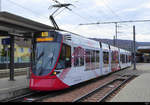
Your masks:
M133 62L134 62L134 68L133 70L136 70L136 39L135 39L135 26L133 26Z

